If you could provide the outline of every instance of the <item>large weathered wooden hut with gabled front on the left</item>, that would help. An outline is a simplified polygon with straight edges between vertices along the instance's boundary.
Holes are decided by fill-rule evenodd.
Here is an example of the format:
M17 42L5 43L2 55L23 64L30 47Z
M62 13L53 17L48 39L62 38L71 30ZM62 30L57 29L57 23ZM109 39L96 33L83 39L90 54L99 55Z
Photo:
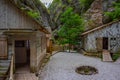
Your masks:
M28 64L36 72L46 54L49 32L10 0L0 0L0 59Z

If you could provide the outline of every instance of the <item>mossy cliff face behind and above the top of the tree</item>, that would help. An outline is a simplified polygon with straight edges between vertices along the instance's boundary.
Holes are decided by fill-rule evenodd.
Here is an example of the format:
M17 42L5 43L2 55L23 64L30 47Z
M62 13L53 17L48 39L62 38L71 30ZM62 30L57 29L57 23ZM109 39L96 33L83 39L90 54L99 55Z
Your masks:
M89 0L89 3L82 5L83 0L54 0L51 6L49 7L50 16L52 21L55 23L55 26L52 29L58 28L60 24L61 14L68 8L72 7L74 12L81 15L90 7L91 3L94 0ZM87 3L87 2L86 2Z

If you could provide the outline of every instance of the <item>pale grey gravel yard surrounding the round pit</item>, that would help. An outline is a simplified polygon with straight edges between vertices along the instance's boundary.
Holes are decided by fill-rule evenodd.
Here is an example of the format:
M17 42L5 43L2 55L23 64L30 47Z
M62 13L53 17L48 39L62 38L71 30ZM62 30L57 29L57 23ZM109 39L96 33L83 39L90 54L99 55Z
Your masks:
M98 69L95 75L80 75L75 69L82 65ZM116 62L102 62L101 59L78 53L60 52L51 57L39 80L120 80L120 59Z

